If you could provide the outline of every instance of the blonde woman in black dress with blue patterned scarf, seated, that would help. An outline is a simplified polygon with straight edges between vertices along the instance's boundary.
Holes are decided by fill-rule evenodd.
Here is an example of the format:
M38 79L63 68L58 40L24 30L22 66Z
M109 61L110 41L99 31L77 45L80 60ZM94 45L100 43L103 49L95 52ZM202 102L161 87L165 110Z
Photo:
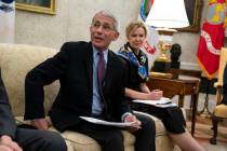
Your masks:
M119 50L118 54L128 64L128 87L125 96L133 99L155 99L162 97L162 91L150 92L146 85L148 80L148 58L141 50L146 37L147 29L141 22L132 22L125 29L128 42ZM161 88L161 87L160 87ZM132 102L132 108L135 102ZM148 112L159 118L170 137L184 151L204 151L204 149L185 129L186 122L178 107L158 108L150 106Z

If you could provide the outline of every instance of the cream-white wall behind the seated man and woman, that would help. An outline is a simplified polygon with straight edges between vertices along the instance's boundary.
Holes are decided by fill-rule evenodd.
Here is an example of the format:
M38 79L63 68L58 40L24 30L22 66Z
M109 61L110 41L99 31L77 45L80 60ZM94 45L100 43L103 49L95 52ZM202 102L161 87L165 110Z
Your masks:
M208 9L203 0L202 19ZM16 43L28 43L59 49L65 41L90 40L89 26L99 10L110 10L120 20L120 38L110 46L117 51L124 42L126 24L136 19L141 0L56 0L56 15L16 11ZM199 33L177 32L174 42L182 45L182 68L198 69L196 52ZM153 57L149 55L149 57Z

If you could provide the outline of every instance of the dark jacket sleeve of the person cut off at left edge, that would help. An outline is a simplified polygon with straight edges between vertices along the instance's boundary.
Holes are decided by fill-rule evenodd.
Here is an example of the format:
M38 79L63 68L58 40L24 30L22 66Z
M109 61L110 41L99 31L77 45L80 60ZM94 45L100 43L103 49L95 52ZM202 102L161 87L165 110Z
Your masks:
M15 138L16 124L11 112L8 94L0 76L0 136L8 135Z

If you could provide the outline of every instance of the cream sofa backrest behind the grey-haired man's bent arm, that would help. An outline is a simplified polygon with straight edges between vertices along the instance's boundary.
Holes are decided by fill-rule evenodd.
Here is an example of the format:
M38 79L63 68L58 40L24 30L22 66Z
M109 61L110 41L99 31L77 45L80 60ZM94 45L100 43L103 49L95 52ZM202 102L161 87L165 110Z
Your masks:
M14 115L24 115L25 77L29 70L52 57L57 50L28 45L0 43L0 69ZM59 88L58 82L44 86L45 113L54 101Z

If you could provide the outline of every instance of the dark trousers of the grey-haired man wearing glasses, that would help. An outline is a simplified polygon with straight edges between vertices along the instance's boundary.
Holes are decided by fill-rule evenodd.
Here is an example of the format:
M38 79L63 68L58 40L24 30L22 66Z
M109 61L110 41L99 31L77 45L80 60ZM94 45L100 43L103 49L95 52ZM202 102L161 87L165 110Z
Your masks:
M155 122L145 115L136 114L142 122L142 128L134 133L136 137L135 151L156 151L156 126ZM118 127L96 125L81 122L69 131L85 134L95 139L102 147L102 151L124 151L123 136Z

